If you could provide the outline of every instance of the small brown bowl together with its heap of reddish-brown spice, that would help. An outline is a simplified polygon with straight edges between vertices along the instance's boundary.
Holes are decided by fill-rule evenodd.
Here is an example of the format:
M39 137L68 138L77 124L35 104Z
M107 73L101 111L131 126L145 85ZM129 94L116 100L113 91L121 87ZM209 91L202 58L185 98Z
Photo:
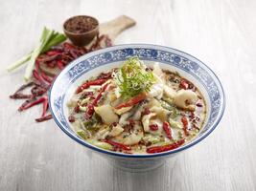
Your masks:
M64 22L63 30L73 44L84 46L98 34L99 22L92 16L73 16Z

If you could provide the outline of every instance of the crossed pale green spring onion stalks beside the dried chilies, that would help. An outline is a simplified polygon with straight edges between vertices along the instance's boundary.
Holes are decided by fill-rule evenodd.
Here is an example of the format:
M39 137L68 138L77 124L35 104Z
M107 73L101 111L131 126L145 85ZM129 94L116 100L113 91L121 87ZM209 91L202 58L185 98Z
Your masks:
M40 37L40 43L35 48L35 50L23 56L21 59L17 60L16 62L12 63L7 68L8 72L12 72L14 69L22 66L23 64L29 61L28 66L26 68L25 76L24 76L26 80L29 80L35 66L36 57L41 53L45 53L49 51L51 47L56 46L65 40L66 40L66 36L64 34L44 28Z

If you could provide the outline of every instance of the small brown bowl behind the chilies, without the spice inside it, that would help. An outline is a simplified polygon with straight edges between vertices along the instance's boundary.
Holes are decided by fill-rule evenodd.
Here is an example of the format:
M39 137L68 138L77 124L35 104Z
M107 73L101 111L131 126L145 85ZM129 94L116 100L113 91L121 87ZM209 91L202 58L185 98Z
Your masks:
M91 18L91 19L93 19L97 22L97 26L95 28L93 28L92 30L88 31L88 32L77 33L77 32L67 31L65 29L66 23L69 22L71 19L74 19L76 17L86 17L86 18L89 17L89 18ZM73 17L67 19L64 22L63 31L74 45L77 45L77 46L80 46L80 47L85 46L85 45L89 44L94 39L94 37L99 33L99 21L96 18L94 18L92 16L87 16L87 15L73 16Z

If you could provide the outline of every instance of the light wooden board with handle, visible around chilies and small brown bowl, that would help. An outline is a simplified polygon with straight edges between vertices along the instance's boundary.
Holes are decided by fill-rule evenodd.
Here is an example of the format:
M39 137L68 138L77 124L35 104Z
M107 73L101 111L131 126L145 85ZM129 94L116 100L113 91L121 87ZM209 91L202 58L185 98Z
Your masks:
M129 18L126 15L118 16L117 18L100 24L100 35L106 34L114 43L115 38L123 31L127 30L130 27L133 27L136 24L135 20ZM96 39L94 39L95 41ZM90 47L90 45L94 42L92 41L86 47ZM44 71L46 74L55 76L60 73L58 67L49 68L45 64L40 65L40 69Z

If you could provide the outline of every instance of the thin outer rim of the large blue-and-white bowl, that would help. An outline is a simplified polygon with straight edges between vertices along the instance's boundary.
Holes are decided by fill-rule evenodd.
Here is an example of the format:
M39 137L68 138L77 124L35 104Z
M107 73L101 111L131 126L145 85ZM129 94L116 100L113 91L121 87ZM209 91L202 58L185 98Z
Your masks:
M111 46L111 47L107 47L105 49L101 49L101 50L98 50L98 51L94 51L94 52L91 52L91 53L86 53L84 55L82 55L81 57L73 60L69 65L68 67L64 68L64 70L62 70L60 72L61 73L65 73L66 71L68 71L71 67L75 66L76 64L80 63L81 60L83 59L86 59L87 57L90 57L91 55L93 54L97 54L97 53L107 53L108 51L112 51L112 50L116 50L116 49L133 49L133 48L145 48L145 47L148 47L151 49L167 49L167 50L173 50L177 53L183 53L185 55L188 55L192 58L194 58L195 60L197 60L199 62L199 64L202 64L207 70L209 70L212 75L214 76L214 78L216 79L216 81L219 83L219 86L220 86L220 92L221 92L221 99L222 99L222 104L221 104L221 113L219 115L219 117L216 118L216 120L214 121L214 123L209 127L209 130L207 130L201 137L199 137L198 139L194 139L192 140L191 142L189 142L188 144L185 144L181 147L178 147L174 150L171 150L171 151L167 151L167 152L162 152L162 153L155 153L155 154L125 154L125 153L118 153L118 152L112 152L112 151L108 151L108 150L105 150L105 149L101 149L99 147L96 147L96 146L93 146L89 143L86 142L86 140L82 140L81 138L78 138L78 137L75 137L73 134L71 134L69 131L66 130L66 128L64 126L62 126L62 124L60 124L58 122L58 117L56 117L55 115L55 112L53 112L53 106L52 106L52 101L51 101L51 97L52 97L52 89L55 85L55 82L59 76L58 76L54 79L52 85L51 85L51 88L49 90L49 108L50 108L50 111L52 113L52 116L55 120L55 122L57 123L58 125L58 128L60 128L68 137L74 139L76 142L80 143L82 146L85 146L89 149L92 149L94 151L97 151L99 153L102 153L102 154L106 154L106 155L109 155L109 156L112 156L112 157L120 157L120 158L135 158L135 159L149 159L149 158L157 158L157 157L164 157L164 156L168 156L168 155L171 155L171 154L175 154L175 153L178 153L178 152L181 152L181 151L184 151L196 144L198 144L198 142L200 142L201 140L203 140L204 138L207 138L215 129L216 127L218 126L218 124L220 123L221 121L221 118L223 117L223 114L224 114L224 110L225 110L225 105L226 105L226 100L225 100L225 94L224 94L224 90L223 90L223 87L221 85L221 81L219 79L219 77L217 76L217 74L215 74L213 72L212 69L210 69L204 62L202 62L201 60L199 60L197 57L189 54L189 53L185 53L185 52L182 52L182 51L179 51L177 49L174 49L174 48L171 48L171 47L167 47L167 46L162 46L162 45L155 45L155 44L146 44L146 43L131 43L131 44L120 44L120 45L114 45L114 46Z

